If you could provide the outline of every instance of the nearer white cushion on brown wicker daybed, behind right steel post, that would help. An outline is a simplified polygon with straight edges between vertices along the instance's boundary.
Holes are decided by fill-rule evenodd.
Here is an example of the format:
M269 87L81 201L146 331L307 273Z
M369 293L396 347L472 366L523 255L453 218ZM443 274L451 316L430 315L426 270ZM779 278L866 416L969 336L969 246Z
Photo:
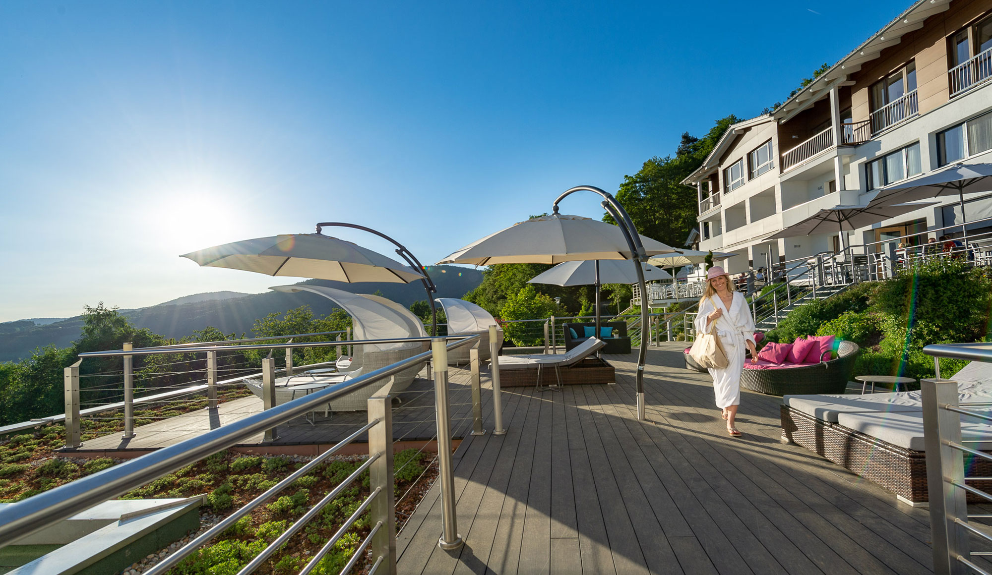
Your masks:
M839 413L837 422L844 427L871 435L887 443L925 451L924 414L919 412ZM961 439L985 439L981 443L968 443L973 449L992 449L992 425L961 423Z

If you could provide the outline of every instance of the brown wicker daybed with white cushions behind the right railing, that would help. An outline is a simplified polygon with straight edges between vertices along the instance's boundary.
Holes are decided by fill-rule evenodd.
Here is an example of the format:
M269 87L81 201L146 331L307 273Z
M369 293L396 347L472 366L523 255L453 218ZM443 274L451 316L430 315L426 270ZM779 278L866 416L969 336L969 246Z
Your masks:
M973 362L954 378L963 407L992 411L992 365ZM867 395L789 395L781 407L782 437L876 483L900 500L928 502L927 456L924 447L921 392ZM962 416L961 437L969 447L992 451L992 425ZM992 477L992 462L966 460L965 475ZM992 490L992 482L969 485ZM980 500L969 495L968 501Z

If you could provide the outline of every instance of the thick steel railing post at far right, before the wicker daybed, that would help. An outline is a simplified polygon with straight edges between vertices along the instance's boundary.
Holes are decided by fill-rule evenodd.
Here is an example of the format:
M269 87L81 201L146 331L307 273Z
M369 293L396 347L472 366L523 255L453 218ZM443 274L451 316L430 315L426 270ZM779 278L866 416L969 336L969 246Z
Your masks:
M964 463L960 451L949 442L961 442L961 416L943 408L957 407L957 382L921 380L924 403L924 445L927 448L927 491L930 499L930 541L933 571L937 575L965 573L957 561L968 555L968 533L957 524L967 521L964 490L950 482L964 484Z

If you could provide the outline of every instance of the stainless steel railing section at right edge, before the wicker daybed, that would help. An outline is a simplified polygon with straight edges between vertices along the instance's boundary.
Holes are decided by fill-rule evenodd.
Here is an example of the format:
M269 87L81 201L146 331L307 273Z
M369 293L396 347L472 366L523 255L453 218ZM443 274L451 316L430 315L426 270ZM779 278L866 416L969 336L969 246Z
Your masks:
M987 526L978 528L973 519L988 518L988 514L969 514L966 496L971 494L992 502L992 494L968 482L988 481L988 477L965 473L965 455L971 461L992 461L992 453L975 449L976 443L992 440L961 438L961 415L992 422L988 410L964 407L984 407L992 403L959 403L957 382L940 379L940 358L992 362L992 343L961 343L928 345L924 353L933 357L936 378L922 380L924 403L924 441L927 449L927 489L930 501L930 540L933 546L933 571L937 575L961 575L967 572L988 574L974 562L989 552L971 552L971 537L992 543ZM992 434L990 434L992 435ZM968 444L974 445L970 447ZM974 465L969 464L969 468ZM983 523L981 523L983 524ZM984 525L984 524L983 524Z

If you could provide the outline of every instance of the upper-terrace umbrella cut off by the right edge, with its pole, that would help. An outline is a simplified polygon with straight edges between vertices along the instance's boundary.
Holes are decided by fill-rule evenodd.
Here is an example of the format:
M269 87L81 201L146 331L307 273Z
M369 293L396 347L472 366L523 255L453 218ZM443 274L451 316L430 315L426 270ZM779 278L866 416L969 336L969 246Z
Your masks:
M956 194L961 205L961 236L967 240L964 194L992 190L992 164L956 164L878 192L872 203L907 202Z

